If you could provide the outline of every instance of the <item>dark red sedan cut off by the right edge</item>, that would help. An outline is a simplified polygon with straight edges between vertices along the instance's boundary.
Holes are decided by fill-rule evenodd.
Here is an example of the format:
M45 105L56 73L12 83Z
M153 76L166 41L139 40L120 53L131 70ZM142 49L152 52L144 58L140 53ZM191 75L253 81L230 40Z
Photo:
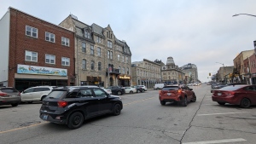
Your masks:
M230 103L240 107L256 105L256 85L230 85L216 89L212 93L212 101L219 105Z

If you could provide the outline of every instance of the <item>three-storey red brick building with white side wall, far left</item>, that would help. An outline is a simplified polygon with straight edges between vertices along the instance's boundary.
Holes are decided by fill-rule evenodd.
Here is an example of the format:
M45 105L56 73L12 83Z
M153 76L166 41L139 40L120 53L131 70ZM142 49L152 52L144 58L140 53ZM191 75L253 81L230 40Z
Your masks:
M0 20L0 84L22 90L74 84L74 33L9 8Z

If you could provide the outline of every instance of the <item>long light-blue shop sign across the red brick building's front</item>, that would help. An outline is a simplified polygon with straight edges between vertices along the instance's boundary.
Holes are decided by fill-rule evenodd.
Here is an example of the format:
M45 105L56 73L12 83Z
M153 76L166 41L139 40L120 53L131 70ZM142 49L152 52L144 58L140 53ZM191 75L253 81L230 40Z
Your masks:
M17 73L66 77L67 69L44 67L44 66L18 65Z

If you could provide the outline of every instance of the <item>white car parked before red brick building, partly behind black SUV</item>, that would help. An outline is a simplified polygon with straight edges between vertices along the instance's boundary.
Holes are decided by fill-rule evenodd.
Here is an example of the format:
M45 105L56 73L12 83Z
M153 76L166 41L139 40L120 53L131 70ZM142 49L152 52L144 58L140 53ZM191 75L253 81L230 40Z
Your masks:
M20 93L22 102L32 103L33 101L43 101L44 98L50 93L56 86L37 86L28 88Z

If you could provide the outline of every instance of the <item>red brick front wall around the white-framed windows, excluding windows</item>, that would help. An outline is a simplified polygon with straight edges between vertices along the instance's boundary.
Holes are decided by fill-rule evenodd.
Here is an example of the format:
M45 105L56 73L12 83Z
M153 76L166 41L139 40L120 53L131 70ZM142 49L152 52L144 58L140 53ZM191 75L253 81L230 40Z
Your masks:
M26 25L38 28L38 38L26 36ZM45 41L45 32L55 34L55 43ZM69 47L61 45L61 37L69 38ZM26 61L26 50L38 52L38 62ZM55 65L45 63L45 54L55 55ZM70 58L70 66L61 66L61 57ZM69 85L74 77L74 33L10 9L9 86L14 86L18 64L67 69Z

